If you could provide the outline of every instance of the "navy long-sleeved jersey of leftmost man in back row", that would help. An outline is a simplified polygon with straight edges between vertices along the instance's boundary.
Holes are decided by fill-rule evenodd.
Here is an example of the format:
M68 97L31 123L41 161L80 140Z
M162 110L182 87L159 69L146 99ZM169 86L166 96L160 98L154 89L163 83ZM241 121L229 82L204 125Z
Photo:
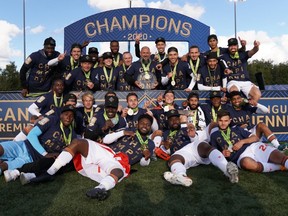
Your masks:
M60 53L54 51L51 57L47 57L44 50L30 54L20 69L20 80L23 88L29 92L48 92L51 89L52 78L56 67L49 67L48 62L58 57ZM26 74L29 71L28 79Z

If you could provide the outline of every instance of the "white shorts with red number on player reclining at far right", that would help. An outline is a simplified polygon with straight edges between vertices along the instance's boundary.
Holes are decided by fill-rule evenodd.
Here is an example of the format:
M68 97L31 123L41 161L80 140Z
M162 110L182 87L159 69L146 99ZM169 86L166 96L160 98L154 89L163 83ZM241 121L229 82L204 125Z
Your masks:
M257 162L267 163L270 157L270 154L276 148L270 146L269 144L256 142L252 143L249 147L245 149L245 151L240 155L237 161L238 167L241 168L240 161L242 158L249 157Z

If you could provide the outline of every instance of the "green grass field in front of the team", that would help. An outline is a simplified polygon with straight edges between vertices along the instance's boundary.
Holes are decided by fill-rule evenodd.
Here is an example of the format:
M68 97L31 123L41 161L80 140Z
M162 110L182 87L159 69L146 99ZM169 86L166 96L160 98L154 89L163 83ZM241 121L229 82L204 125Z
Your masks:
M213 165L191 168L189 188L166 182L162 160L124 179L105 201L86 197L96 182L76 172L38 185L6 183L0 179L0 215L288 215L287 172L257 174L240 171L231 184Z

